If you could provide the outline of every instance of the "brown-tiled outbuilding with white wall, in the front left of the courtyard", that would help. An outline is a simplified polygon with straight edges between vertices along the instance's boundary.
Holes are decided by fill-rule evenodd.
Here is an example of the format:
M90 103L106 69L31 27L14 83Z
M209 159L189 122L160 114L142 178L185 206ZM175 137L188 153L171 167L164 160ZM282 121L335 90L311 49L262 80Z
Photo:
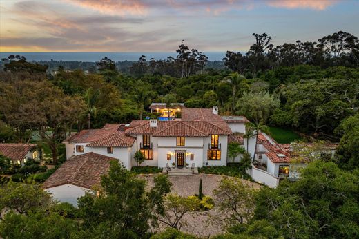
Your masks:
M108 173L112 160L116 159L97 153L72 156L43 182L42 187L52 193L55 200L77 206L77 198L88 191L95 192L94 187L100 184L101 175Z

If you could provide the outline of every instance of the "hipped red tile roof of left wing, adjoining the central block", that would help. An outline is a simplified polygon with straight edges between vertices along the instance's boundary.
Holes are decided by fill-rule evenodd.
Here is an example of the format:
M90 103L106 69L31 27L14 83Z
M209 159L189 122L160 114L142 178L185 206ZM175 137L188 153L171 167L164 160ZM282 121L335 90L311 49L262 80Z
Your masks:
M124 132L116 132L100 140L94 141L87 146L113 146L113 147L130 147L135 142L135 137L125 135Z

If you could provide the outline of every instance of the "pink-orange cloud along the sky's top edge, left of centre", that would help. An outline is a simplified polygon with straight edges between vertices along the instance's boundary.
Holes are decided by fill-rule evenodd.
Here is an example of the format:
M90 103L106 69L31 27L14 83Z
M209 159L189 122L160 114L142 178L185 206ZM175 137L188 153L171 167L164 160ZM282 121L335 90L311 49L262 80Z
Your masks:
M68 2L110 15L146 15L146 6L138 0L68 0Z

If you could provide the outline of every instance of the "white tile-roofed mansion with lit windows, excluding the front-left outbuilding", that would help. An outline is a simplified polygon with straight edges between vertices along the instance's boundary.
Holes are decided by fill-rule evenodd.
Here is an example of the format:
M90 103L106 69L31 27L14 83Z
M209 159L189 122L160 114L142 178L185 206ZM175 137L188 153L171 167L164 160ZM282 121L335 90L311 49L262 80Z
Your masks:
M130 124L106 124L101 129L83 130L64 141L66 157L95 153L115 158L130 170L137 165L135 152L141 151L146 157L141 166L226 166L231 162L227 146L237 142L251 155L256 150L256 159L263 165L249 170L254 180L276 187L280 178L296 176L289 171L289 153L268 135L260 134L257 149L254 137L247 144L243 137L249 122L246 117L220 116L216 106L182 106L176 110L181 118L133 120ZM240 158L241 155L235 162Z

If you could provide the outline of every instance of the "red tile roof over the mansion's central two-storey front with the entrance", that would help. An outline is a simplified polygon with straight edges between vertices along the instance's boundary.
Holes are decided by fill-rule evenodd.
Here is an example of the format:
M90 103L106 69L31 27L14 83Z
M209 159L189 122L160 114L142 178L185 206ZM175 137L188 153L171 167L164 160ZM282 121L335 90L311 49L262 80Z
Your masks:
M129 128L128 135L153 135L155 137L174 137L188 135L188 137L206 137L208 135L231 135L229 127L221 128L215 124L204 121L158 121L157 127L146 124Z

